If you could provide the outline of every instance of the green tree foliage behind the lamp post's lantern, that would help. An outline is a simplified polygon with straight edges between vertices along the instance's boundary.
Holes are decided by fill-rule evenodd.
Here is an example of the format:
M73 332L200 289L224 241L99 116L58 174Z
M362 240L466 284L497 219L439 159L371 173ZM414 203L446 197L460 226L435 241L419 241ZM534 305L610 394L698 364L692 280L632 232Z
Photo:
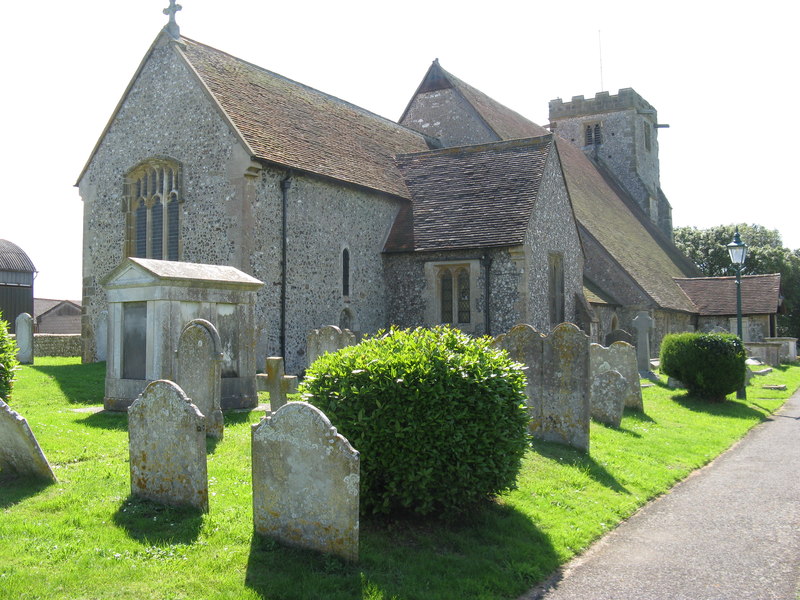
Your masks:
M778 316L779 335L800 337L800 249L784 247L780 233L762 225L718 225L708 229L678 227L675 245L708 277L734 275L727 245L736 228L747 244L743 275L781 274L784 312Z

